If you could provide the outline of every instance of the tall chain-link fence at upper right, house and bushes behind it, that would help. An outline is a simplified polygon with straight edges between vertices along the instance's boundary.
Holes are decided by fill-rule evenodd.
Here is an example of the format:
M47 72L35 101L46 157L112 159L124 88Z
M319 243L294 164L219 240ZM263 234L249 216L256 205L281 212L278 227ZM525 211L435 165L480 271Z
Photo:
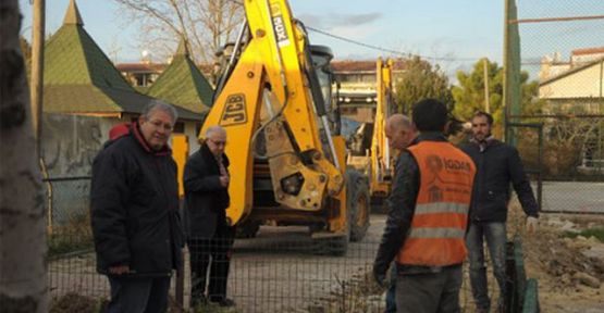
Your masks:
M507 0L506 9L506 139L543 178L543 211L602 214L604 2Z

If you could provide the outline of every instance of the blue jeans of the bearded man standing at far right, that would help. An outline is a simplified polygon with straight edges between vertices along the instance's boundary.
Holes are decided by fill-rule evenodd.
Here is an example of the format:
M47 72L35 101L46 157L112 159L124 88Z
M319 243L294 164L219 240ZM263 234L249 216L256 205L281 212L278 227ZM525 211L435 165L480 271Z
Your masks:
M470 285L476 305L480 310L491 308L486 266L484 264L484 239L493 261L493 274L500 286L500 302L505 299L505 223L470 223L466 246L470 259Z

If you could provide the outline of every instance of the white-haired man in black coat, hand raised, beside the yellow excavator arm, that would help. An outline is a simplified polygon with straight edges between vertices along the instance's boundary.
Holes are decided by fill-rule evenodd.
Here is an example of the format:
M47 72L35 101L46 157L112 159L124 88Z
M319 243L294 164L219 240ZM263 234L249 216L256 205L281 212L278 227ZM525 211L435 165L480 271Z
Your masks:
M185 165L185 220L190 253L192 305L202 303L206 299L221 306L234 305L233 300L226 298L235 229L226 221L230 176L225 146L224 128L209 127L201 147L190 155Z

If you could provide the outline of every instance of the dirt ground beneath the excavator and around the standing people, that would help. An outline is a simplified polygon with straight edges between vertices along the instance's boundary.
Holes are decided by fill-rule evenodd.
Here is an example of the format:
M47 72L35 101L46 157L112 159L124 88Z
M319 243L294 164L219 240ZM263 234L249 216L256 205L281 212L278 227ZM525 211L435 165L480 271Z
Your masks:
M309 240L308 231L299 227L279 230L266 227L257 238L237 241L229 293L238 305L234 311L218 312L383 312L383 293L371 288L369 274L385 215L375 214L371 218L367 237L352 243L345 256L318 256L295 249L294 243ZM542 214L540 228L532 235L526 234L523 225L525 214L514 206L508 237L522 238L526 274L538 279L541 312L604 313L604 243L595 238L563 236L565 231L604 227L604 215ZM107 297L108 286L95 273L93 256L90 253L86 258L79 255L52 263L49 283L53 293L71 290L91 297L87 306L81 304L83 301L74 301L74 296L66 297L56 303L52 312L97 311L98 297ZM471 313L473 303L468 280L465 266L460 302L463 312ZM497 295L494 295L492 275L489 286L495 303ZM345 297L338 293L343 290L347 290ZM185 279L185 301L188 293L188 279Z

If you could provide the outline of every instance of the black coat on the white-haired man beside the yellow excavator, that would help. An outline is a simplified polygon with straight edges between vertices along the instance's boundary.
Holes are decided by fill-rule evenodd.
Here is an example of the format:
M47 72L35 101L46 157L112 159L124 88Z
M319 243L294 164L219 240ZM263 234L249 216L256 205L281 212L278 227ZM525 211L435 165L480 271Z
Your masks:
M229 159L222 155L229 168ZM206 143L185 165L185 228L189 238L213 238L218 227L226 227L229 189L220 184L218 161Z

